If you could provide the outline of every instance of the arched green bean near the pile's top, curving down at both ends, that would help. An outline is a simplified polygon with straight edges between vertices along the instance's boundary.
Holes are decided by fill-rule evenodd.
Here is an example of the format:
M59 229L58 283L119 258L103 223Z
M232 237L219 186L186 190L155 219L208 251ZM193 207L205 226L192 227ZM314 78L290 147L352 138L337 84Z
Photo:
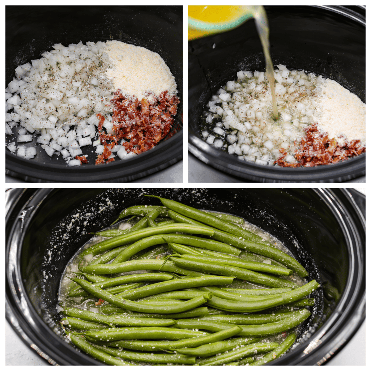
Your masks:
M179 224L171 224L172 227L177 226ZM195 236L186 236L184 234L158 234L154 236L145 237L136 241L135 243L128 246L126 249L122 250L115 258L114 264L125 262L134 254L137 254L139 251L146 249L147 247L151 247L154 245L158 245L161 243L170 243L170 242L181 242L191 244L192 246L203 246L210 250L216 251L223 251L223 252L233 252L238 253L240 251L232 246L229 246L222 242L217 242L214 240L209 240L201 237Z

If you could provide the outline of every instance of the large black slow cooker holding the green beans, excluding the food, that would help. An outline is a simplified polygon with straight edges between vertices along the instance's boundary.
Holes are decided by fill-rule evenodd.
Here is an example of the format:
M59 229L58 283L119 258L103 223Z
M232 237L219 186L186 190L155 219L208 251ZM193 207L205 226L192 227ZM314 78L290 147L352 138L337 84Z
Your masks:
M99 365L63 338L58 287L93 232L131 205L172 198L243 217L290 249L316 279L312 316L276 365L324 364L365 318L365 198L352 189L13 189L6 193L6 316L52 364ZM309 332L306 332L309 330Z

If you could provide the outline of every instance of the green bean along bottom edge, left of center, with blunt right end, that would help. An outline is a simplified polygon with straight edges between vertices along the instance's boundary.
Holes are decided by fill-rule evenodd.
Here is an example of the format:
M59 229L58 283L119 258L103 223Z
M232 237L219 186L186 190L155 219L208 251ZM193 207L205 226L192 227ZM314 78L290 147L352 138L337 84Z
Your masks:
M120 351L116 348L103 347L96 345L98 349L105 351L115 357L126 359L128 361L147 362L147 363L173 363L173 364L184 364L194 365L196 363L196 357L189 357L186 355L177 354L154 354L144 352L131 352L131 351Z

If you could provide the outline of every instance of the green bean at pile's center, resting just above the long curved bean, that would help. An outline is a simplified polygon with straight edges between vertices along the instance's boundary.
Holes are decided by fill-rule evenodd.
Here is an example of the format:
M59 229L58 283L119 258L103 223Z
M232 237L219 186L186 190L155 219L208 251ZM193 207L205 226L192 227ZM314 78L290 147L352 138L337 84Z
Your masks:
M158 283L152 283L152 285L143 286L142 288L129 290L119 294L120 298L129 300L137 300L144 298L145 296L156 295L161 292L180 290L190 287L198 287L204 285L229 285L233 282L234 277L225 276L203 276L196 278L183 278L177 280L170 280ZM209 282L209 283L207 283Z

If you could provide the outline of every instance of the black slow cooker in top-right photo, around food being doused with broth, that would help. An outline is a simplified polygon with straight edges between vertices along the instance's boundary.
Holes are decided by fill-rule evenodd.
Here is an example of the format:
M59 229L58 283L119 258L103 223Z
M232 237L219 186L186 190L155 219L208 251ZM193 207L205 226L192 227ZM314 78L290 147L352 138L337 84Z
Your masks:
M273 65L335 80L365 102L365 7L266 6ZM237 71L264 71L255 23L188 43L188 148L199 160L246 180L338 182L365 174L365 154L312 168L281 168L238 160L201 139L199 119L211 96Z

